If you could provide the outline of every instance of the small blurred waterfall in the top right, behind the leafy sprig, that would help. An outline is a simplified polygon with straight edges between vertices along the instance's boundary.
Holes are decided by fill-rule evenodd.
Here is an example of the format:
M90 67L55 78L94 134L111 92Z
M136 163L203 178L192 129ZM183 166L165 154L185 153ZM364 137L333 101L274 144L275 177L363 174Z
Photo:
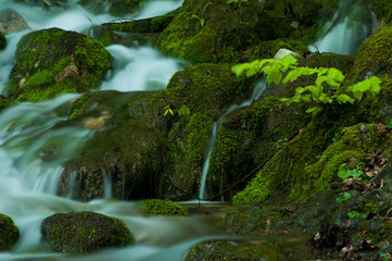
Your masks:
M371 34L376 15L359 0L342 0L331 21L325 24L321 36L315 42L320 52L354 54ZM317 51L309 46L311 51Z

